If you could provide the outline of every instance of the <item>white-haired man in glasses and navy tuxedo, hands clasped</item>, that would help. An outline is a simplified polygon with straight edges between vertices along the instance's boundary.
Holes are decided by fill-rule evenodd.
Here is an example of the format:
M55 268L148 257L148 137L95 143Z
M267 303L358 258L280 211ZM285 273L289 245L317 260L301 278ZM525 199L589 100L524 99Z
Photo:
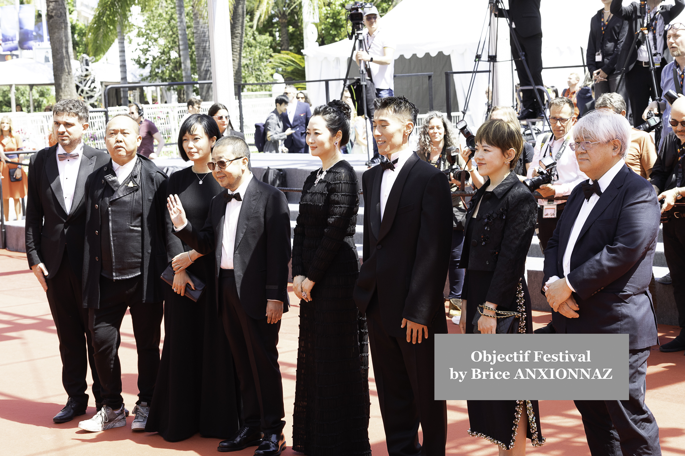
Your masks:
M629 397L575 401L593 456L661 455L659 428L645 405L647 358L658 343L647 291L659 230L649 182L625 165L629 122L606 109L573 128L580 170L545 249L543 293L560 334L630 334Z

